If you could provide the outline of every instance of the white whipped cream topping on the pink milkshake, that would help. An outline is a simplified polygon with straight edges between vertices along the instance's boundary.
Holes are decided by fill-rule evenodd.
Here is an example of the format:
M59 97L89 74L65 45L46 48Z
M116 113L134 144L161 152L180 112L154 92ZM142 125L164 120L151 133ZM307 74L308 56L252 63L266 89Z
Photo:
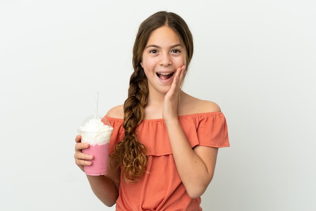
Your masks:
M104 125L100 118L92 118L78 128L81 142L95 144L106 144L110 142L113 127Z

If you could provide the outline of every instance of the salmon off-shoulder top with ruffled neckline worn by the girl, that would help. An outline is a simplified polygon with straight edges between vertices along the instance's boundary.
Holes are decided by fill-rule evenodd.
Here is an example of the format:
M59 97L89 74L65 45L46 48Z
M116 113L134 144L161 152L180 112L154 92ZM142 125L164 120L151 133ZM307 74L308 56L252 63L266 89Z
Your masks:
M124 137L123 119L105 118L114 128L110 142L110 153L113 153L115 145ZM192 148L229 146L222 112L179 116L179 121ZM121 175L116 210L202 210L201 198L190 198L181 182L164 120L143 120L136 130L148 150L148 166L140 181L127 183Z

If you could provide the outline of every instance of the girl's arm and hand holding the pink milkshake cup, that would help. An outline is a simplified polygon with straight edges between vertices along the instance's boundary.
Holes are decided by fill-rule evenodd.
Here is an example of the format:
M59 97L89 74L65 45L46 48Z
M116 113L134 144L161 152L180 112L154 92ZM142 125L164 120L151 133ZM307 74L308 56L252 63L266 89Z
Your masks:
M84 171L84 166L89 166L92 164L92 155L84 154L81 152L82 149L88 148L89 144L81 143L81 136L76 137L75 146L75 162L77 166ZM108 166L108 173L104 176L89 176L87 175L88 181L92 188L94 194L107 206L113 206L119 196L119 186L120 186L120 171L114 171L110 166Z

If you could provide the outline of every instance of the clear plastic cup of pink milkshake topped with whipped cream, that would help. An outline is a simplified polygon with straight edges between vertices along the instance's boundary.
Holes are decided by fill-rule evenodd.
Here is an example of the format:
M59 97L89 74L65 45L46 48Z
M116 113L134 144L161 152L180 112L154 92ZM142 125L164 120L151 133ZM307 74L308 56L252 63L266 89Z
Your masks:
M109 121L101 116L86 118L78 132L82 143L89 143L89 147L82 149L83 153L92 154L91 166L84 166L86 175L104 175L108 171L110 138L113 127Z

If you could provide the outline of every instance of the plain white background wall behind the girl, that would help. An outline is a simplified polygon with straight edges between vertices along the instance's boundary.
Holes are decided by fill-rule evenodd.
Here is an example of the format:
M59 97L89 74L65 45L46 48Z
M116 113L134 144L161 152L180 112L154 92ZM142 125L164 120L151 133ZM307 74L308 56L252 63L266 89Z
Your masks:
M0 1L0 210L115 210L75 165L77 127L122 104L139 24L182 16L184 90L217 102L220 149L204 210L316 210L315 1Z

